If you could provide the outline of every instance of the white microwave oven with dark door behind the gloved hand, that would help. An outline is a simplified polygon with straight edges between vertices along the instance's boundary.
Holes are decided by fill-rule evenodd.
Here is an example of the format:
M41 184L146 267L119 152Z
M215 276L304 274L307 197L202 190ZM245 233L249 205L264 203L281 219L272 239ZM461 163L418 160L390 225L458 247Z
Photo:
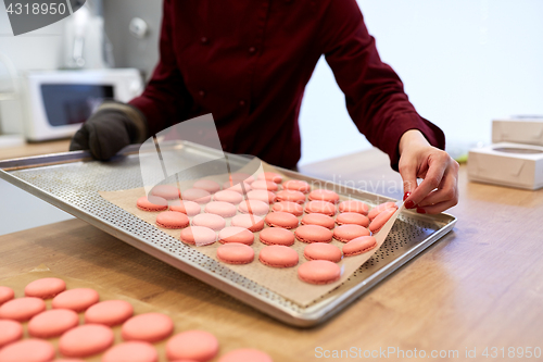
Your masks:
M26 72L11 104L0 102L2 130L27 140L73 136L104 100L128 102L143 89L135 68Z

